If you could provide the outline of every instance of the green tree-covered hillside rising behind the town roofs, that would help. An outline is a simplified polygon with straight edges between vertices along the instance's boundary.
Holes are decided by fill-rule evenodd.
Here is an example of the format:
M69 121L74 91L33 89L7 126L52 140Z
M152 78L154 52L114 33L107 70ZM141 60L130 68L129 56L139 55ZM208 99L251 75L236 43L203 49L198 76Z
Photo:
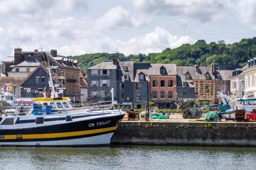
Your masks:
M177 66L209 66L214 63L227 64L228 62L245 65L248 59L256 57L256 37L242 39L240 42L226 44L220 40L206 43L205 40L198 40L195 44L183 44L177 48L167 47L161 53L150 53L148 55L138 54L124 56L123 54L95 53L83 54L80 56L71 56L72 59L79 61L79 66L86 70L87 68L102 61L111 61L113 57L120 61L129 61L130 59L139 59L144 63L175 63Z

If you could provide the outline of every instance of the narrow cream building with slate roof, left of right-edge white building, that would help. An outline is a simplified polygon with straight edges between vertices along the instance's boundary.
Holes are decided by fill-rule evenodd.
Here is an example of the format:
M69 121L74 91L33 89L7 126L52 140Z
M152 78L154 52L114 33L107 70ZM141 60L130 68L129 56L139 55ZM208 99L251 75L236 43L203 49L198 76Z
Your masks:
M230 98L233 100L241 99L244 96L244 72L243 68L232 71L230 78Z

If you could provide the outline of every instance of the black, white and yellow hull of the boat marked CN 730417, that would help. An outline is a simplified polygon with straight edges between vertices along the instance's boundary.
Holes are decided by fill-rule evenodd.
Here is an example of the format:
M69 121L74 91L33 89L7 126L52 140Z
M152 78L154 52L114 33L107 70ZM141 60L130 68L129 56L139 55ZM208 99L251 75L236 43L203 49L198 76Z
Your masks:
M0 146L106 146L123 116L123 112L118 110L90 114L2 116ZM13 119L13 125L6 125L7 119Z

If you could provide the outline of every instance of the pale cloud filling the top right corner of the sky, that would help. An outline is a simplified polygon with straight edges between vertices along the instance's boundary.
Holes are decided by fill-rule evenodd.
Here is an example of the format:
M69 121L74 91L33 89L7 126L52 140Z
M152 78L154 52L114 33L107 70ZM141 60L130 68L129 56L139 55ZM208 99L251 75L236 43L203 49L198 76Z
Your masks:
M239 11L241 21L256 31L256 1L241 0L237 4L237 9Z

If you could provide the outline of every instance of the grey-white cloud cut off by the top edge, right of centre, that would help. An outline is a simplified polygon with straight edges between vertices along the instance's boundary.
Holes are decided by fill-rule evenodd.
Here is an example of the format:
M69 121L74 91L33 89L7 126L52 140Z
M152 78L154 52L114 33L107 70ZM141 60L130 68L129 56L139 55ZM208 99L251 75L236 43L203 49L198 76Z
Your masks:
M196 18L202 22L223 17L230 3L227 0L135 0L137 12L146 15L170 15Z

